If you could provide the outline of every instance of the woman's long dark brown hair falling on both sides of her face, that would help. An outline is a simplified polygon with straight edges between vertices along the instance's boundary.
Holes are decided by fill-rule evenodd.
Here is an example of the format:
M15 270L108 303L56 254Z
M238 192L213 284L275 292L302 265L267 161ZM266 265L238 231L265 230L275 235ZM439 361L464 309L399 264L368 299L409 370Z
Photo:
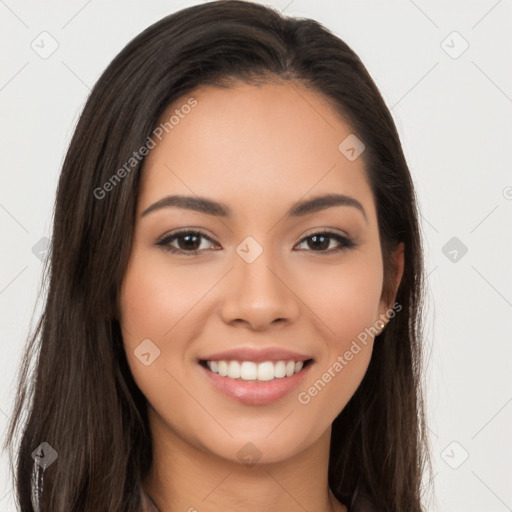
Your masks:
M391 251L405 246L395 298L402 309L377 336L361 385L333 422L329 486L343 503L359 483L381 511L424 510L424 269L418 206L395 124L358 56L321 24L223 0L178 11L135 37L104 71L77 124L58 184L47 299L26 346L5 443L15 452L22 512L34 510L32 453L43 442L58 459L44 472L42 510L140 511L134 489L152 463L147 401L129 371L116 316L143 159L126 163L166 107L198 86L273 80L322 94L364 142L385 291ZM123 166L121 182L94 193Z

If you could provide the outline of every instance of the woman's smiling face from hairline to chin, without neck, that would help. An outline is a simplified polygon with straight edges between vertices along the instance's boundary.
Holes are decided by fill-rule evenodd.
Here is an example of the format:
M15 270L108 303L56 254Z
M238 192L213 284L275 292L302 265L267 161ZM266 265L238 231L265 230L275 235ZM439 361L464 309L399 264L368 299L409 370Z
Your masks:
M340 151L350 126L299 86L190 96L144 162L119 298L128 362L153 428L232 461L284 460L330 432L390 316L363 156ZM344 198L308 208L327 194ZM222 208L159 203L176 195ZM216 356L232 349L246 352Z

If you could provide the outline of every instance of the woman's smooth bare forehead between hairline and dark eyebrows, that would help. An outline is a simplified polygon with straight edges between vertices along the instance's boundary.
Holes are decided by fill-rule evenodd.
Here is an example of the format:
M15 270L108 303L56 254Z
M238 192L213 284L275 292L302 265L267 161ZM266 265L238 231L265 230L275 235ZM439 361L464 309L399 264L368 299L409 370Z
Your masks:
M190 98L197 103L184 108ZM311 89L295 83L201 87L175 101L161 123L171 116L145 159L139 211L166 193L249 208L338 192L373 209L363 158L350 161L339 149L350 125Z

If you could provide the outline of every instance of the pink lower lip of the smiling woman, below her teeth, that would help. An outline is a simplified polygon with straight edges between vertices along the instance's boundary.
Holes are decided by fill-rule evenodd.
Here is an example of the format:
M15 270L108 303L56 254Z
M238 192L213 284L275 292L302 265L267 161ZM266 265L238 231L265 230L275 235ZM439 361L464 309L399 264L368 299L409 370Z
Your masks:
M304 380L313 362L291 377L282 377L267 382L249 382L222 377L202 365L203 371L210 382L222 393L247 405L264 405L275 402L291 393Z

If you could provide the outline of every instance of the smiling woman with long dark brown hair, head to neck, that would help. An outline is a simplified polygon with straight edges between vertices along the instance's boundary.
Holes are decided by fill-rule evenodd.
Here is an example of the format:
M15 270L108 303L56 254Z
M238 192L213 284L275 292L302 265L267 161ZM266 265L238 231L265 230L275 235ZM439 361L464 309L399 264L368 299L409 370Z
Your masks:
M424 510L413 184L317 22L219 1L128 44L68 149L48 280L22 511Z

